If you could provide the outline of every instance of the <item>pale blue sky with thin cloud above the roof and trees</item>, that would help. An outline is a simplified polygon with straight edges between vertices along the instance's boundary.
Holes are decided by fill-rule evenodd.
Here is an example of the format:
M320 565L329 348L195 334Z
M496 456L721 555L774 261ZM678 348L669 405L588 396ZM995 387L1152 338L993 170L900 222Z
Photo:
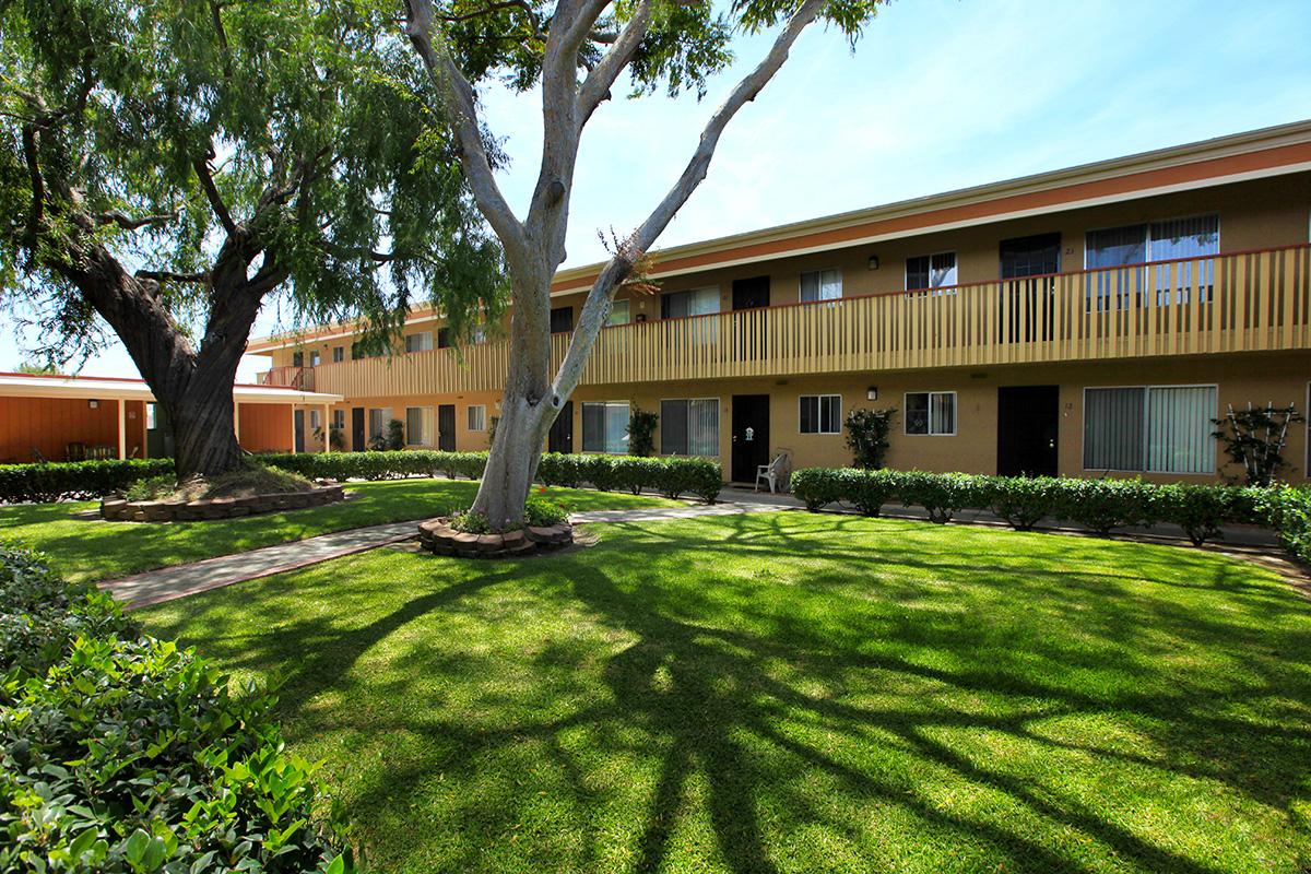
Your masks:
M898 0L855 54L818 26L801 37L659 245L1311 118L1308 45L1307 0ZM603 257L598 229L646 216L764 46L738 41L738 64L700 104L616 88L585 134L570 266ZM503 190L522 208L540 155L538 97L482 98L513 157ZM287 324L277 309L265 307L257 334ZM7 320L0 370L25 359ZM265 364L249 356L240 376ZM121 347L81 372L136 375Z

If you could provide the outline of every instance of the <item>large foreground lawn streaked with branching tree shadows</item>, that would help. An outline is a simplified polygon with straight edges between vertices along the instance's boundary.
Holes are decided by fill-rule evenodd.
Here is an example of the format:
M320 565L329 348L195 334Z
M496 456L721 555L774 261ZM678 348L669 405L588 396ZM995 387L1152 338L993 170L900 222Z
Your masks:
M1268 571L805 514L594 531L143 617L284 677L370 870L1311 865L1311 603Z

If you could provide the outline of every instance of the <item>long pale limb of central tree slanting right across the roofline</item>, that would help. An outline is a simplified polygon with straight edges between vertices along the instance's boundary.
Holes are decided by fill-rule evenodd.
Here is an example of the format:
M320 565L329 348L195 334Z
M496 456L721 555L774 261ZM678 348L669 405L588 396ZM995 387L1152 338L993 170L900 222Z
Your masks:
M705 172L714 156L714 148L718 145L724 128L733 121L738 110L755 100L760 89L779 72L797 37L823 12L827 3L829 0L805 0L801 8L792 14L764 59L733 88L724 104L711 115L705 130L701 131L700 143L682 176L602 269L600 275L597 276L587 292L587 300L578 316L578 326L569 341L569 350L556 372L552 400L557 402L557 406L577 388L600 328L606 324L611 300L619 283L628 276L633 265L650 249L678 210L687 203L687 199L705 178Z

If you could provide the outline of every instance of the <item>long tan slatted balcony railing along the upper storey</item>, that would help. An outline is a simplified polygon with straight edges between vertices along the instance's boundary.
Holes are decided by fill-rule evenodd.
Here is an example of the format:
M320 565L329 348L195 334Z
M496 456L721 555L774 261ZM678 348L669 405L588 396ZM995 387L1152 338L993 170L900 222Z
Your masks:
M569 335L553 338L558 363ZM1311 248L607 328L585 384L1311 349ZM503 342L316 368L353 397L497 390Z

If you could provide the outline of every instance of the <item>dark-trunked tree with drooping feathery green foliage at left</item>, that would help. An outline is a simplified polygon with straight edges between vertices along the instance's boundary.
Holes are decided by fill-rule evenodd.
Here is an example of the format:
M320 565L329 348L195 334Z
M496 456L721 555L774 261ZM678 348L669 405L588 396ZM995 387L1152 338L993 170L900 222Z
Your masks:
M50 359L104 320L180 476L240 466L232 384L271 295L375 343L417 290L456 333L503 299L395 20L385 0L0 3L0 296Z

